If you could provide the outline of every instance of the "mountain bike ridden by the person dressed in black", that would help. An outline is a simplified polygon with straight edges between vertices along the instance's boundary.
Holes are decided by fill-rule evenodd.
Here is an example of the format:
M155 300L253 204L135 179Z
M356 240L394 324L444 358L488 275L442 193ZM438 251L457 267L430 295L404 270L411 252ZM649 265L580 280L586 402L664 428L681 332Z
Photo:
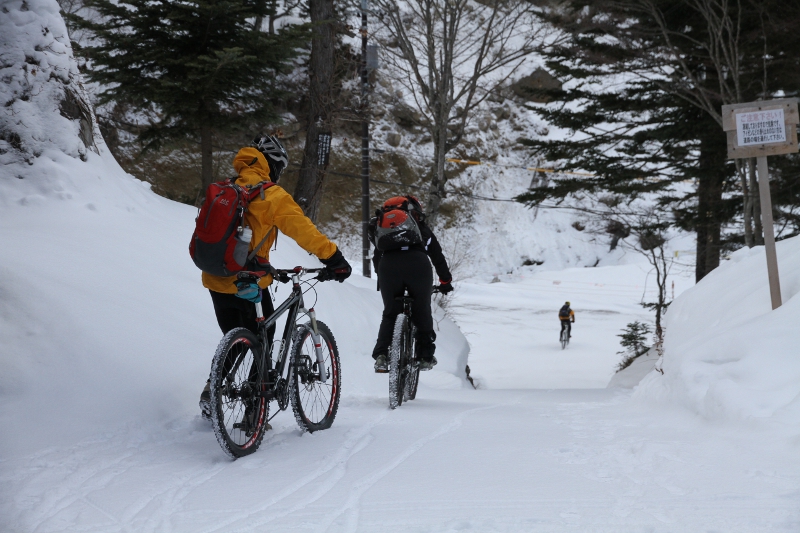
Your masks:
M439 292L434 287L433 292ZM403 296L395 298L403 302L403 311L394 323L392 345L389 348L389 408L397 409L403 402L417 397L419 385L419 361L416 351L417 328L411 322L411 304L414 299L405 290Z

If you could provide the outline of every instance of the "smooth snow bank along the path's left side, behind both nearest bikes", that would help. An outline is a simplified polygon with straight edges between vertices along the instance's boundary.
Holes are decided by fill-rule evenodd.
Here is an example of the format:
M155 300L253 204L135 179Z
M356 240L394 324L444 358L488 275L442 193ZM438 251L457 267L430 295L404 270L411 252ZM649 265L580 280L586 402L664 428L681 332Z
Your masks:
M0 167L0 446L194 416L221 337L188 254L195 209L153 194L109 156L53 150L25 167L22 180ZM287 237L273 258L319 265ZM352 280L319 285L316 308L341 350L343 394L385 395L370 358L379 293ZM439 324L441 364L422 385L461 387L466 342Z

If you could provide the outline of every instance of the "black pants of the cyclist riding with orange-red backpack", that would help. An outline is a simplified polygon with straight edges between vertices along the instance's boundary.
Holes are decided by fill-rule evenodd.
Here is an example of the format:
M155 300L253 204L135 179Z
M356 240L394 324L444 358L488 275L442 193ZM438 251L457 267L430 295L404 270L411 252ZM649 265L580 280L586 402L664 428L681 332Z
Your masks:
M417 346L419 354L430 359L435 350L433 341L433 316L431 315L431 294L433 292L433 272L428 255L421 250L398 250L386 252L378 263L378 283L383 298L383 315L378 330L378 340L372 351L373 359L380 353L387 353L392 344L394 323L403 311L402 301L395 298L403 296L403 289L414 298L411 306L411 319L417 327Z

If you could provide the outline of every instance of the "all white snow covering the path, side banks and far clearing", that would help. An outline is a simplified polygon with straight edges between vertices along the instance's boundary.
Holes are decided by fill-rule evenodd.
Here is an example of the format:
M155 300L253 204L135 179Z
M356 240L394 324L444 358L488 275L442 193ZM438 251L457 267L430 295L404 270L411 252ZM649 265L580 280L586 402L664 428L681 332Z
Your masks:
M53 22L45 37L65 34L55 2L8 5L0 22L31 48L36 13ZM38 51L73 72L68 47ZM46 124L57 111L37 95L26 117ZM438 317L440 364L417 399L390 411L372 372L374 281L319 285L342 354L337 419L309 435L279 414L234 462L198 416L220 332L188 257L195 211L125 175L102 143L76 152L67 125L37 137L33 164L0 166L3 532L800 530L800 239L778 247L777 311L763 249L696 287L674 272L664 374L607 389L616 334L647 318L645 264L563 211L485 204L461 233L477 247L444 239L468 258L448 307L463 334ZM510 195L520 179L482 183ZM274 263L316 260L282 238ZM564 300L577 323L562 351Z

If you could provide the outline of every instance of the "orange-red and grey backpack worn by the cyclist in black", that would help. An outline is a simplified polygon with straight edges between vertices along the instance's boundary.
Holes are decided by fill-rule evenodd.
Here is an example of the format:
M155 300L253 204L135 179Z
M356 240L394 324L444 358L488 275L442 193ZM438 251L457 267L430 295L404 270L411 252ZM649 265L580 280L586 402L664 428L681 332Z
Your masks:
M375 247L381 252L422 244L419 223L424 220L422 206L413 196L395 196L375 212Z

